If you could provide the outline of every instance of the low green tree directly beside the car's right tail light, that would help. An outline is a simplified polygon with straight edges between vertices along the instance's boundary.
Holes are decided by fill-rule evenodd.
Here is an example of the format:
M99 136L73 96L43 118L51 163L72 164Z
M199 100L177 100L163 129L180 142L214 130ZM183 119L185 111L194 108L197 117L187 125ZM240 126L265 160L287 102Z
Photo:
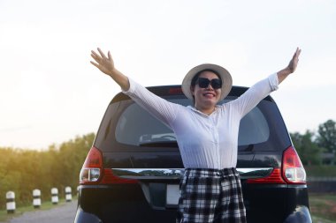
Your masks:
M291 133L291 138L296 151L300 155L300 159L304 165L319 165L321 164L322 149L313 142L314 133L307 130L304 135L299 132Z

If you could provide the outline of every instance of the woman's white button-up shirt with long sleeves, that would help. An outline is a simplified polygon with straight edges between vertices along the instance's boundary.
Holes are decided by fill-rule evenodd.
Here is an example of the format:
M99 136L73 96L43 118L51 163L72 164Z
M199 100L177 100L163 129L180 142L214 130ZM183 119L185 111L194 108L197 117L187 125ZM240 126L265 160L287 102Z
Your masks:
M132 79L129 82L124 93L174 131L184 167L215 169L236 167L241 118L279 85L278 75L272 74L206 115L164 100Z

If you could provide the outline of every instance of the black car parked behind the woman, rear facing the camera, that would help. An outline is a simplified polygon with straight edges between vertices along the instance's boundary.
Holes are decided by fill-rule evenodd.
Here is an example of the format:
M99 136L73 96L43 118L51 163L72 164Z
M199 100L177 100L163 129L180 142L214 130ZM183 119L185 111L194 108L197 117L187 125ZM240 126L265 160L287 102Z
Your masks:
M191 103L180 85L148 89L174 103ZM220 103L247 89L233 86ZM271 96L241 120L238 151L248 223L311 222L306 173ZM118 93L80 171L74 222L175 222L183 171L172 130Z

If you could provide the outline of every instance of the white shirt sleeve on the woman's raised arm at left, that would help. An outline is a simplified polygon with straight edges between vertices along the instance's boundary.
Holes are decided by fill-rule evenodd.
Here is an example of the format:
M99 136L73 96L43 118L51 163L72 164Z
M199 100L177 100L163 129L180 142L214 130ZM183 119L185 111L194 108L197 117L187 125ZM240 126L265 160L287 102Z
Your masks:
M129 83L130 88L128 91L124 91L123 93L130 96L137 104L147 110L151 115L157 117L158 120L167 126L172 127L172 122L175 120L176 115L179 112L179 107L181 106L164 100L156 94L149 92L147 88L139 85L131 78L129 78Z

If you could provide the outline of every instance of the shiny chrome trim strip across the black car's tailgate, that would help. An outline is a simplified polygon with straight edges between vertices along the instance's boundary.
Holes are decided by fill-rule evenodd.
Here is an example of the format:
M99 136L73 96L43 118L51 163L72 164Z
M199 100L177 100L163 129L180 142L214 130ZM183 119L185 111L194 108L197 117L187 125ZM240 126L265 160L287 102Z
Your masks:
M271 174L272 167L237 168L241 179L261 178ZM137 180L180 179L184 168L112 168L113 174L121 178Z

